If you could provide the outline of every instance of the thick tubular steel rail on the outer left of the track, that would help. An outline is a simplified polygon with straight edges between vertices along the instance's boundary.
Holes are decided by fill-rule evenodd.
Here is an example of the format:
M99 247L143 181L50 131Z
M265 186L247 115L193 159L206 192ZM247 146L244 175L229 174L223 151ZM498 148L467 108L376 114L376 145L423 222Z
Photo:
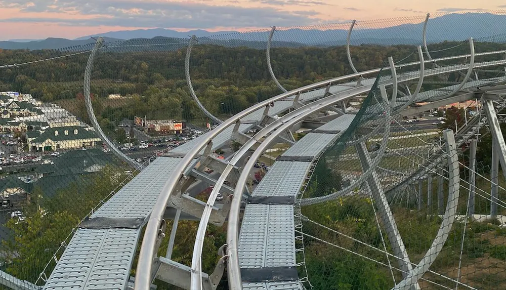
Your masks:
M491 55L491 54L496 54L496 53L497 52L489 52L489 53L484 53L484 54ZM465 56L447 57L445 59L458 59L461 57L465 57ZM487 67L487 66L494 66L494 65L502 65L505 63L506 63L505 60L493 61L493 62L483 62L483 63L479 63L479 64L475 65L475 67ZM419 64L419 62L408 63L408 64L400 65L399 67L409 66L409 65L414 65L414 64ZM443 72L460 71L460 70L464 70L467 68L468 68L467 65L454 65L454 66L450 66L449 69L445 70L445 71L442 71L441 69L439 69L439 70L432 69L429 71L428 75L435 75L435 74L439 74L439 73L443 73ZM303 88L292 90L290 92L283 93L281 95L278 95L276 97L273 97L271 99L263 101L255 106L252 106L252 107L236 114L234 117L227 119L226 121L221 123L215 130L211 131L211 133L209 134L209 136L207 136L206 139L203 139L198 144L196 144L192 148L192 150L184 158L182 158L181 162L175 168L174 174L165 183L165 185L162 189L162 194L159 195L156 205L153 208L150 219L148 221L148 225L146 227L144 239L143 239L142 246L141 246L141 253L139 256L139 262L138 262L138 266L137 266L137 277L138 278L136 279L135 289L149 288L149 284L150 284L149 277L150 277L151 266L152 266L151 263L152 263L152 259L155 254L154 250L155 250L155 244L156 244L156 240L157 240L157 233L158 233L159 225L161 224L161 221L162 221L161 217L165 211L165 204L167 203L168 199L170 198L172 191L176 187L176 184L178 182L184 181L184 177L182 175L182 172L184 171L184 169L186 169L188 167L188 165L194 159L196 154L200 150L202 150L203 147L207 143L211 142L212 139L216 135L221 133L227 127L231 126L234 122L236 122L241 117L243 117L255 110L258 110L258 109L268 105L269 103L272 103L272 102L275 102L278 100L282 100L284 98L296 95L301 92L306 92L306 91L310 91L310 90L314 90L314 89L318 89L318 88L323 88L327 85L335 84L335 82L354 78L354 77L357 77L357 76L360 76L363 74L377 73L377 72L379 72L379 70L381 70L381 69L378 68L378 69L368 70L368 71L365 71L362 73L350 74L347 76L342 76L342 77L333 78L330 80L321 81L316 84L312 84L312 85L305 86ZM413 78L413 76L408 75L408 76L403 77L402 81L407 81L412 78ZM368 89L370 89L370 86L359 87L359 88L352 89L352 90L354 93L363 94L364 92L367 92ZM343 94L343 93L349 94L348 97L351 96L349 91L341 92L340 94ZM231 258L233 258L233 257L231 257Z

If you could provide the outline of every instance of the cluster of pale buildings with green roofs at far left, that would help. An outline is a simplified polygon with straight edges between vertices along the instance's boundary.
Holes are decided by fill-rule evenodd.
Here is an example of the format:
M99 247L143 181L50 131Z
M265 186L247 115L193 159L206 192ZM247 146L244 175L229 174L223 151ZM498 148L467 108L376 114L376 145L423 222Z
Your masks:
M67 110L17 92L0 92L0 131L25 133L29 151L80 149L102 144L93 128Z

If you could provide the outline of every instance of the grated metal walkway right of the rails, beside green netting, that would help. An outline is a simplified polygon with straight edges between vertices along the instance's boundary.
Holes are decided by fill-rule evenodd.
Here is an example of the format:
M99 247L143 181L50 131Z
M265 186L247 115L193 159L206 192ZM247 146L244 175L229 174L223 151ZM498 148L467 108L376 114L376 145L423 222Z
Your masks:
M282 156L315 157L344 129L355 115L343 115L326 124L343 129L339 134L310 133ZM296 196L312 162L276 161L251 194L254 197ZM241 268L295 267L295 240L292 204L247 204L239 235ZM242 283L244 289L303 289L299 281L262 281Z

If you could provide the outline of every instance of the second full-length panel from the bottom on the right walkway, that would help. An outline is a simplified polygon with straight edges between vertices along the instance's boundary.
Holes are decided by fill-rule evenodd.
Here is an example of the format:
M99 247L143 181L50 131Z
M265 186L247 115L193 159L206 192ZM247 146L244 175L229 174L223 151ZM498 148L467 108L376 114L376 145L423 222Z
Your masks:
M321 134L323 135L323 134ZM311 162L276 161L251 196L294 196L301 189Z

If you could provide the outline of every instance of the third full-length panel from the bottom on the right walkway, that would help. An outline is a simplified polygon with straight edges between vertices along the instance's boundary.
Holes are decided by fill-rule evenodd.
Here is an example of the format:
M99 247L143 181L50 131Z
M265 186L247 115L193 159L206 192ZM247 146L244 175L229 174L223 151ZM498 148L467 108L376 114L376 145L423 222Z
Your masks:
M306 138L307 137L307 138ZM283 156L316 156L334 140L336 134L308 133L283 153ZM276 165L276 163L274 163Z

